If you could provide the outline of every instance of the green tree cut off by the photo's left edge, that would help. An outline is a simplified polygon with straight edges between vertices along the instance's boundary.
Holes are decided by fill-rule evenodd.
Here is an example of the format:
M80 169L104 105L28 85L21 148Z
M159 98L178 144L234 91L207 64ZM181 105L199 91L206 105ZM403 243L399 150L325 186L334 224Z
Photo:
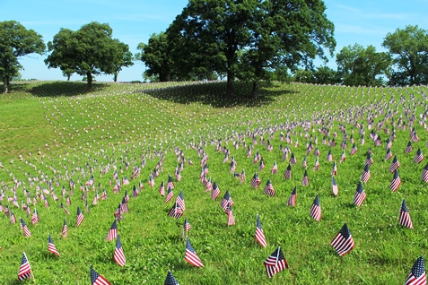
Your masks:
M18 76L22 65L19 58L32 53L43 54L45 44L34 30L27 30L16 21L0 22L0 77L4 82L4 93L9 91L9 83Z

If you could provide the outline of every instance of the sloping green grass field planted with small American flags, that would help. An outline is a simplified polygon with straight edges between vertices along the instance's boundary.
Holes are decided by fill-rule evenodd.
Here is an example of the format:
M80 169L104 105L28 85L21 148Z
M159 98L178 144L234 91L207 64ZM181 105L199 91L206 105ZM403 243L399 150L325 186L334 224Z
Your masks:
M428 186L421 179L426 160L413 161L418 148L426 152L428 88L266 83L257 101L247 97L250 90L249 84L238 82L236 98L225 99L223 82L97 83L91 92L81 82L15 82L10 94L0 95L2 204L8 204L7 197L13 197L14 190L21 206L26 202L24 189L35 196L36 187L48 188L48 182L59 200L48 195L48 208L41 200L30 205L39 212L40 222L34 226L21 207L9 202L17 220L25 220L30 238L22 235L19 222L11 224L0 213L0 283L20 283L17 274L25 251L37 284L90 284L90 264L112 284L163 284L168 270L180 284L403 284L428 245ZM393 121L396 138L391 151L401 164L402 179L397 192L389 190L392 159L384 160ZM405 153L412 124L419 142L412 142L413 151ZM360 125L365 132L363 145ZM329 136L321 133L322 127ZM341 129L347 134L343 163ZM380 146L372 142L371 132L380 135ZM282 141L281 133L291 142ZM351 135L358 147L353 156ZM333 138L336 146L330 147L328 141ZM273 151L267 150L268 140ZM310 184L301 186L305 170L301 162L309 142L320 151L319 170L313 170L316 157L312 151L307 155ZM225 163L224 151L216 150L218 145L230 151ZM284 178L290 156L282 161L280 145L289 147L297 159L292 179ZM249 158L248 146L252 148ZM182 180L174 179L174 198L182 190L186 202L183 217L175 220L167 216L175 200L164 203L158 189L169 174L174 177L179 164L174 153L177 148L194 165L186 163ZM198 149L208 155L207 177L221 189L216 201L199 181ZM363 184L367 199L357 207L354 193L369 149L374 162L371 178ZM337 196L331 191L333 161L326 159L330 150L337 163ZM257 151L266 164L260 171L258 163L253 163ZM229 171L232 157L237 162L235 172L245 169L242 184ZM148 178L162 158L163 171L151 187ZM278 173L271 174L275 161ZM114 172L122 180L131 177L134 167L141 168L141 175L114 194ZM258 189L250 186L256 171L262 181ZM84 185L92 176L94 187L86 192ZM275 188L274 197L263 193L268 178ZM70 179L76 187L72 204L67 206L70 215L66 215L59 204L66 203L61 192L65 186L69 194ZM144 188L134 198L133 186L140 183ZM297 202L289 207L285 203L294 186ZM108 199L92 205L94 195L104 188ZM233 199L236 220L229 227L220 207L226 190ZM129 212L118 221L118 232L127 263L119 267L113 261L115 241L108 243L105 238L125 192L131 195ZM90 212L85 211L82 193L87 194ZM316 194L322 211L319 221L310 217ZM415 229L399 224L404 198ZM78 228L77 206L85 217ZM265 248L255 240L257 214L266 235ZM65 217L68 234L62 238ZM181 229L185 217L192 227L188 238L203 268L184 260ZM329 243L344 222L355 247L339 257ZM48 252L48 233L60 257ZM263 262L277 246L290 268L269 279Z

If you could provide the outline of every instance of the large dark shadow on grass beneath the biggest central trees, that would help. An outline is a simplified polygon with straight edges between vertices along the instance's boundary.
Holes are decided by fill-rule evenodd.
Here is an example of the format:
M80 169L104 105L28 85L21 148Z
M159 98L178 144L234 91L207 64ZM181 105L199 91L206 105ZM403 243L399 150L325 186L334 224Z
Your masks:
M275 97L290 94L295 91L276 89L274 83L260 82L258 99L251 98L252 83L234 82L232 97L226 95L225 82L190 83L188 85L168 88L135 91L153 96L156 99L166 99L175 103L189 104L200 102L214 108L231 108L235 106L258 107L269 104Z

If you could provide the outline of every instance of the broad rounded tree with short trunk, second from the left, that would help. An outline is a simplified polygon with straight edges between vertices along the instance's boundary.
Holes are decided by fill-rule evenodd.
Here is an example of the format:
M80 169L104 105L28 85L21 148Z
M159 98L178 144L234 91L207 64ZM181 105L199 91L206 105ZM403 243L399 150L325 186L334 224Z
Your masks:
M133 65L128 46L112 39L107 23L91 22L76 31L61 29L48 42L48 52L48 68L86 76L88 89L92 87L92 74L114 74L116 80L122 67Z

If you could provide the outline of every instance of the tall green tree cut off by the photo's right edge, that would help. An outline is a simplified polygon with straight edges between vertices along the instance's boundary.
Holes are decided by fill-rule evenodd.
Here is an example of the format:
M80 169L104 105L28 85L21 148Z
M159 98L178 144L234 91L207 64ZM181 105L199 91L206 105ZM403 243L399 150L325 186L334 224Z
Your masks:
M394 72L390 85L428 83L428 33L417 25L408 25L388 33L382 47L393 57Z

